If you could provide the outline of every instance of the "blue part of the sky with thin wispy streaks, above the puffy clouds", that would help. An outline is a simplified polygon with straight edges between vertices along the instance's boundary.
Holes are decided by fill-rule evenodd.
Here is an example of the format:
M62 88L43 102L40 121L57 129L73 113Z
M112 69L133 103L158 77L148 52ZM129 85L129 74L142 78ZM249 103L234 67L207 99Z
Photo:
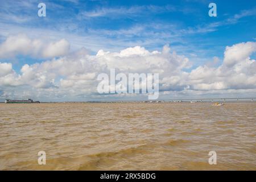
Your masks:
M46 17L39 17L38 3L46 4ZM208 15L208 5L217 5L217 17ZM91 55L98 50L118 52L141 46L172 51L188 57L190 72L204 64L222 64L226 46L256 40L256 1L2 1L0 0L0 43L10 35L31 39L65 39L70 51L84 47ZM59 56L61 57L61 56ZM58 56L55 59L59 58ZM255 59L255 52L250 55ZM24 64L47 61L49 57L17 53L0 57L20 73Z

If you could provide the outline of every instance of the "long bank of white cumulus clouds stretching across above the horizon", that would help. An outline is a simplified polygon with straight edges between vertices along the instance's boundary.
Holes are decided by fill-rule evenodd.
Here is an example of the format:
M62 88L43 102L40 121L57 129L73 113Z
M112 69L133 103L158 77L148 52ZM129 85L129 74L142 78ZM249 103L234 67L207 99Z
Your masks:
M59 47L56 43L51 46ZM51 49L44 50L51 55ZM80 49L58 59L25 64L19 74L10 63L0 63L0 90L17 94L27 86L26 94L30 90L37 98L100 98L105 96L97 93L97 76L109 74L110 69L115 68L116 74L159 73L160 94L255 92L256 62L250 58L255 50L255 42L235 44L226 47L219 67L206 64L186 71L191 67L188 58L178 55L168 45L162 51L136 46L119 52L100 50L96 55Z

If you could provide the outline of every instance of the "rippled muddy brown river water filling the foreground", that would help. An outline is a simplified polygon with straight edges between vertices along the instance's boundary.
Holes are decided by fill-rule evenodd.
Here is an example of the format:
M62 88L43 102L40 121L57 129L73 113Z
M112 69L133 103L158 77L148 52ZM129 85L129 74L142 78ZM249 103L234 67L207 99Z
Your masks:
M255 129L256 102L0 104L0 170L256 170Z

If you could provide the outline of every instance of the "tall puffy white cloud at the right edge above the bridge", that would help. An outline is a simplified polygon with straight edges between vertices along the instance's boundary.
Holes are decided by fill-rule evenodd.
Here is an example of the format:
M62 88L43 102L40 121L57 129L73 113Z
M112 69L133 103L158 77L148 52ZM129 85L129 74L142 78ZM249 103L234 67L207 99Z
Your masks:
M193 89L255 89L256 62L250 55L256 51L255 42L234 44L226 47L220 67L200 66L191 71L189 82Z

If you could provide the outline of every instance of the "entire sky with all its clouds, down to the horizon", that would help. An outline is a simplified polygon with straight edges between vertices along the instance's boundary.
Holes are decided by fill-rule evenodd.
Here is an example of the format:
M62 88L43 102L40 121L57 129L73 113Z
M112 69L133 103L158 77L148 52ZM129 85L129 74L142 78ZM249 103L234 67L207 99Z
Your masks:
M111 68L159 73L159 99L256 96L256 1L0 4L0 101L147 98L99 94L97 76Z

